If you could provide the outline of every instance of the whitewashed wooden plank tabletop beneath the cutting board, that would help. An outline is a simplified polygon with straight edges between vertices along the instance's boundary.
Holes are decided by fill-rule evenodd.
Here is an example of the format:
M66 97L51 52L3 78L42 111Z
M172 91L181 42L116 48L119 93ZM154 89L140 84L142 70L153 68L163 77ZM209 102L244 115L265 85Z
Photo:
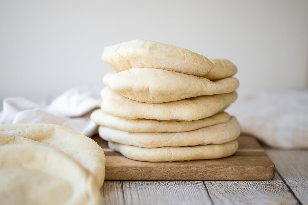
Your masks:
M269 181L105 181L102 204L308 204L308 150L264 146Z

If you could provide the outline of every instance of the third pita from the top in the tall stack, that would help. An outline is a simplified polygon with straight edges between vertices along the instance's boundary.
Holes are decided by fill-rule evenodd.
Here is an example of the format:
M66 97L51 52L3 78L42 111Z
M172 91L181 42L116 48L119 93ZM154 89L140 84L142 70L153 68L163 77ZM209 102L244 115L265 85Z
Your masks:
M101 96L101 109L111 115L128 119L154 119L191 121L200 120L222 112L237 98L237 93L192 97L164 103L133 101L105 87Z

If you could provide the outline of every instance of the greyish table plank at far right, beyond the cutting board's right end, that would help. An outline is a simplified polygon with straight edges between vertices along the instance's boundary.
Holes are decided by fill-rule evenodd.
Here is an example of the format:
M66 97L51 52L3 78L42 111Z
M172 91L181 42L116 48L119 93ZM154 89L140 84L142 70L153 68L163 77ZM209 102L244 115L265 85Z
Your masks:
M282 179L302 204L308 204L308 150L265 148Z

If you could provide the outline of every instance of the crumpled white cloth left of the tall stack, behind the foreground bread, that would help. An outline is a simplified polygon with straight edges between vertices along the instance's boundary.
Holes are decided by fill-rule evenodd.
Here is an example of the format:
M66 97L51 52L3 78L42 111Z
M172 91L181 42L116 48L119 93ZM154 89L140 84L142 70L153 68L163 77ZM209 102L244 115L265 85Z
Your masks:
M90 114L100 107L102 88L87 86L69 89L47 106L22 97L5 98L0 123L59 124L91 137L97 134L97 125L90 120Z

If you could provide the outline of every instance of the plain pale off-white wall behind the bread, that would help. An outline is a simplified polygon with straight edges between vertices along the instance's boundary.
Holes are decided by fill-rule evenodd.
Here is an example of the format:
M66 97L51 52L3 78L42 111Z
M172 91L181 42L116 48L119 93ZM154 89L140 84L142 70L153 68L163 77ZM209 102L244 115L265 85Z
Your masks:
M0 100L103 85L103 47L147 39L238 67L239 93L302 89L308 1L0 2Z

